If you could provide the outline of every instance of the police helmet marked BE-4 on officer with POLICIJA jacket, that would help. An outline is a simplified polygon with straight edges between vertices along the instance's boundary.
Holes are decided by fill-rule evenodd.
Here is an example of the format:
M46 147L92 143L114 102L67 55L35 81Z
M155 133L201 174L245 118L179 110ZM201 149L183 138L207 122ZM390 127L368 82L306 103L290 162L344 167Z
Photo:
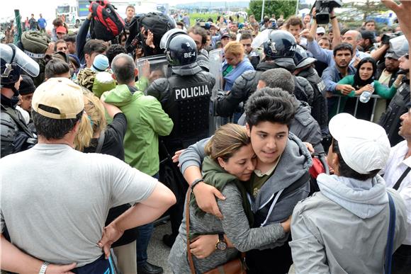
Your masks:
M167 35L167 33L169 34ZM169 30L167 33L164 35L167 37L163 37L164 42L160 42L160 45L164 47L165 43L165 53L169 64L171 66L182 66L196 62L197 46L193 38L187 33L181 33L181 30L176 29Z

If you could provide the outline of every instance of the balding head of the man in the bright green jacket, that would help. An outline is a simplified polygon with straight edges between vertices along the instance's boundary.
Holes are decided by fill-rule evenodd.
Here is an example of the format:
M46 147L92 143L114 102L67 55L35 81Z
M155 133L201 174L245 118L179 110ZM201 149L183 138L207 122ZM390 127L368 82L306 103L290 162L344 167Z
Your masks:
M118 84L129 84L135 81L137 69L135 68L134 60L125 53L120 53L113 58L111 69L114 76L116 76Z

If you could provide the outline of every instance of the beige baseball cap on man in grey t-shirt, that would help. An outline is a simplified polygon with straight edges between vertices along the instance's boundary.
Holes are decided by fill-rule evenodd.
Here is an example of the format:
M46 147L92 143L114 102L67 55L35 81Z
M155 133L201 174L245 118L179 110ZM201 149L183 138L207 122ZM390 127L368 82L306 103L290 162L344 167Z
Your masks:
M74 119L84 110L84 99L81 86L74 84L72 80L58 77L50 78L38 86L31 101L35 112L52 119ZM50 113L39 108L45 105L57 108L60 114Z

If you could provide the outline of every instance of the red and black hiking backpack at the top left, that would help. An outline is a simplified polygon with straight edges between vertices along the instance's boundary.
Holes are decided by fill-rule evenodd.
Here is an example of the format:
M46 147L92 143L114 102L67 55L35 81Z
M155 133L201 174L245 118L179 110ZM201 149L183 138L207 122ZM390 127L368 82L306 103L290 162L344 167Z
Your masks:
M111 41L123 31L123 18L118 15L116 8L109 1L93 1L89 11L93 13L90 26L91 38Z

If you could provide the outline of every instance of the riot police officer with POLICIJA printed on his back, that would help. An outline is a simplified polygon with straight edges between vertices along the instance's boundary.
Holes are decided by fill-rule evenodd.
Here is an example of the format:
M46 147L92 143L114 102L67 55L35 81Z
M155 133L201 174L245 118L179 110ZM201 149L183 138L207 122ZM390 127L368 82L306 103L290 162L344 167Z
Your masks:
M152 82L147 95L156 97L174 122L171 134L164 137L167 151L174 154L209 136L210 97L215 79L198 66L196 42L184 30L169 30L163 36L160 47L164 49L171 66L171 76ZM179 187L184 188L174 191L177 202L170 210L172 234L163 238L168 246L174 243L183 217L187 183L183 181Z

